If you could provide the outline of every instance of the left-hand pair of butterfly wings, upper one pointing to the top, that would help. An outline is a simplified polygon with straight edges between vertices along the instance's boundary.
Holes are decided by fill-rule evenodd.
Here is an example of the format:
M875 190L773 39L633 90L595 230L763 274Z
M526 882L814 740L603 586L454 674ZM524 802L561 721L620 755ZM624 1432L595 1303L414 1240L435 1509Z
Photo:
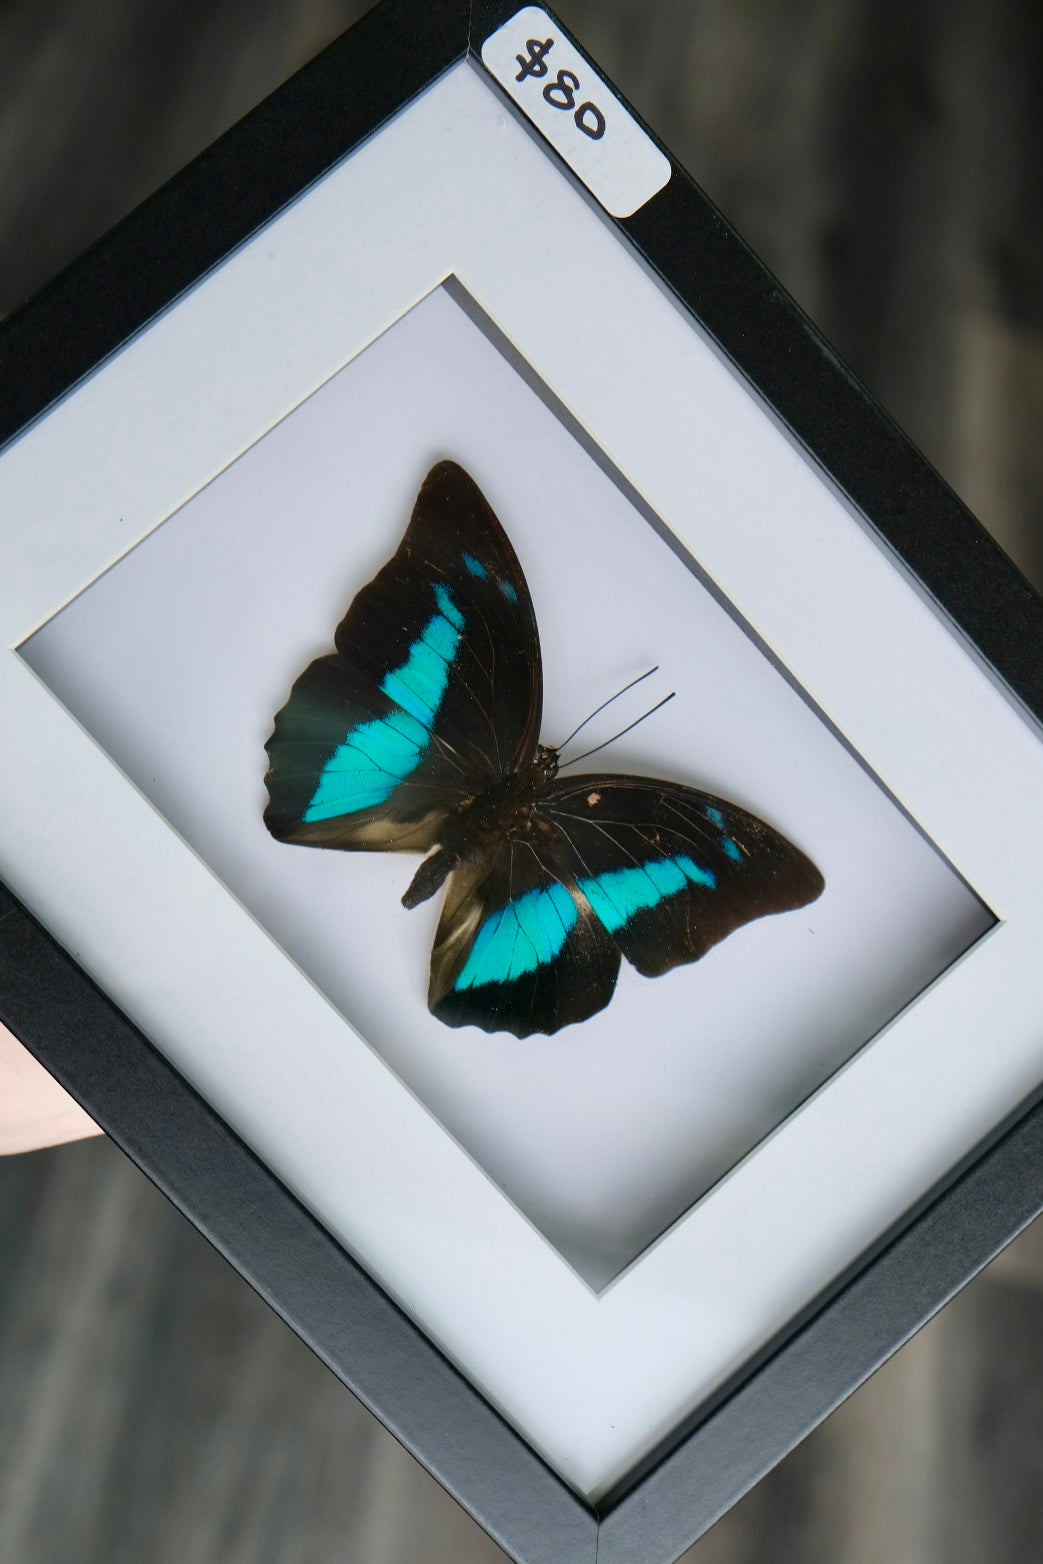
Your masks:
M463 804L535 752L536 619L471 477L428 472L407 533L353 599L267 743L264 820L283 841L425 851Z

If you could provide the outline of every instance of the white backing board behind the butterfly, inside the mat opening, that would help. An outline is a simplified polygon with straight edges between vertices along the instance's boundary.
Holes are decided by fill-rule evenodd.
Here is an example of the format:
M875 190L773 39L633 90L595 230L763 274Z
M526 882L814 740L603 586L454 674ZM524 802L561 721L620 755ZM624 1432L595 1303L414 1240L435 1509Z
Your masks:
M425 1007L441 898L416 859L288 848L264 740L443 455L480 482L541 627L544 737L769 820L826 893L607 1010L524 1042ZM705 455L713 508L741 450ZM774 474L763 474L771 505ZM25 646L188 843L594 1289L604 1287L993 921L707 588L436 289ZM666 682L668 680L668 682ZM635 704L636 702L636 704ZM580 766L582 769L582 766ZM249 1084L244 1082L249 1090Z

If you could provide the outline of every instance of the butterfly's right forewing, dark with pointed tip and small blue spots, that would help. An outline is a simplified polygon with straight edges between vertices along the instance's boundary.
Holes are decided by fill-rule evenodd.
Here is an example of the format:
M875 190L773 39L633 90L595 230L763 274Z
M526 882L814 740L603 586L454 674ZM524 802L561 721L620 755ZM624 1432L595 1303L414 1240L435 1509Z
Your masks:
M824 881L791 841L737 804L649 777L557 779L539 816L568 848L599 923L632 967L658 978L726 935L802 907Z

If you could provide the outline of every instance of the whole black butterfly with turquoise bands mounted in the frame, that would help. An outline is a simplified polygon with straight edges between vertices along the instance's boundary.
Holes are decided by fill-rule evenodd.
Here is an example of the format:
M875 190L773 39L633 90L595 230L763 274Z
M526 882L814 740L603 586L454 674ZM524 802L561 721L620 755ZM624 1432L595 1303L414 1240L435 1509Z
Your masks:
M608 1004L622 957L658 978L821 893L797 848L726 799L558 776L529 586L457 463L427 474L335 647L275 718L264 823L302 846L428 854L402 902L446 885L428 1006L447 1026L557 1032Z

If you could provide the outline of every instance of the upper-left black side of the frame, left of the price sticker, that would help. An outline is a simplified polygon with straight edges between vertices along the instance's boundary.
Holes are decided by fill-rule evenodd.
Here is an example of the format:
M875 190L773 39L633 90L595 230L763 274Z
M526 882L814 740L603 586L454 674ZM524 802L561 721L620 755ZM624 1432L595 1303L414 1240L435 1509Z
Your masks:
M14 310L0 447L463 59L469 36L468 0L382 0Z

